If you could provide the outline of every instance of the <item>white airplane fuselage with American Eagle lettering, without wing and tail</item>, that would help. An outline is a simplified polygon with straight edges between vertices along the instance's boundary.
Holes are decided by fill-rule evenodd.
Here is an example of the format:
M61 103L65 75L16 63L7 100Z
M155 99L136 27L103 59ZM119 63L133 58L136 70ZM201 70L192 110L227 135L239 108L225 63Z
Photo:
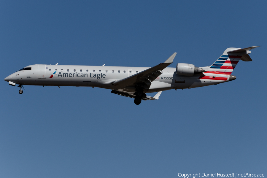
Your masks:
M118 66L70 66L43 65L27 66L31 70L20 70L5 78L19 85L47 86L89 86L134 92L134 87L116 88L112 82L121 80L149 67L118 67ZM205 69L205 67L203 67ZM166 67L145 93L170 89L195 88L228 82L230 75L216 72L202 75L182 76L176 74L176 68ZM53 75L53 76L52 76Z

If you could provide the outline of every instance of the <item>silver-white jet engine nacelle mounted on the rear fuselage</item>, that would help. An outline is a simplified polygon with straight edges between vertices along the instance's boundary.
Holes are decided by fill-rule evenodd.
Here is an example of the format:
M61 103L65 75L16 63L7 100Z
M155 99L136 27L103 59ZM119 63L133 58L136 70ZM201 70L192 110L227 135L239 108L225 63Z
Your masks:
M178 63L176 66L177 75L193 76L195 74L200 74L202 72L206 71L199 67L196 67L193 64Z

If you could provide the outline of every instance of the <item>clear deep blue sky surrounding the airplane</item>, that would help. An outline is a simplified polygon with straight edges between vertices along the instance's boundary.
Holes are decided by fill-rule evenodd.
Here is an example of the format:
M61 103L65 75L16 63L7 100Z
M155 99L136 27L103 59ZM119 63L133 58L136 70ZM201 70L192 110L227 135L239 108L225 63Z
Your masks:
M267 174L266 1L1 1L0 177ZM237 79L157 101L4 81L31 64L211 65L251 50Z

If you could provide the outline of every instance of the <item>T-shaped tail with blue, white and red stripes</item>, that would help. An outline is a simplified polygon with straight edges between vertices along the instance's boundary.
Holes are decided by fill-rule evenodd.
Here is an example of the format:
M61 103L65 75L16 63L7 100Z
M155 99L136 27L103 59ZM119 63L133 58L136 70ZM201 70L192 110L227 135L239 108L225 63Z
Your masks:
M252 46L247 48L227 48L224 53L221 55L217 61L215 61L211 66L205 68L207 73L222 73L222 74L231 74L233 69L235 69L239 60L242 61L252 61L249 57L249 50L252 50L259 46Z

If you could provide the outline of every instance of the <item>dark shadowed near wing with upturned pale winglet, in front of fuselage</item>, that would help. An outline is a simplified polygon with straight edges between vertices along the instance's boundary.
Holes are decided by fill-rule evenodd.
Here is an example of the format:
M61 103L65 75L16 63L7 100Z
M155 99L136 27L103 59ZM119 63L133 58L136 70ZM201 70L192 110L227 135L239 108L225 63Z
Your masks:
M164 63L160 63L157 66L151 67L147 70L144 70L142 72L139 72L137 74L134 74L130 77L116 80L112 82L111 84L115 86L115 90L118 90L120 88L124 88L127 86L136 86L140 85L140 87L144 87L146 89L149 89L151 83L161 74L161 70L165 69L167 66L169 66L175 55L177 53L173 53L171 57L169 57Z

